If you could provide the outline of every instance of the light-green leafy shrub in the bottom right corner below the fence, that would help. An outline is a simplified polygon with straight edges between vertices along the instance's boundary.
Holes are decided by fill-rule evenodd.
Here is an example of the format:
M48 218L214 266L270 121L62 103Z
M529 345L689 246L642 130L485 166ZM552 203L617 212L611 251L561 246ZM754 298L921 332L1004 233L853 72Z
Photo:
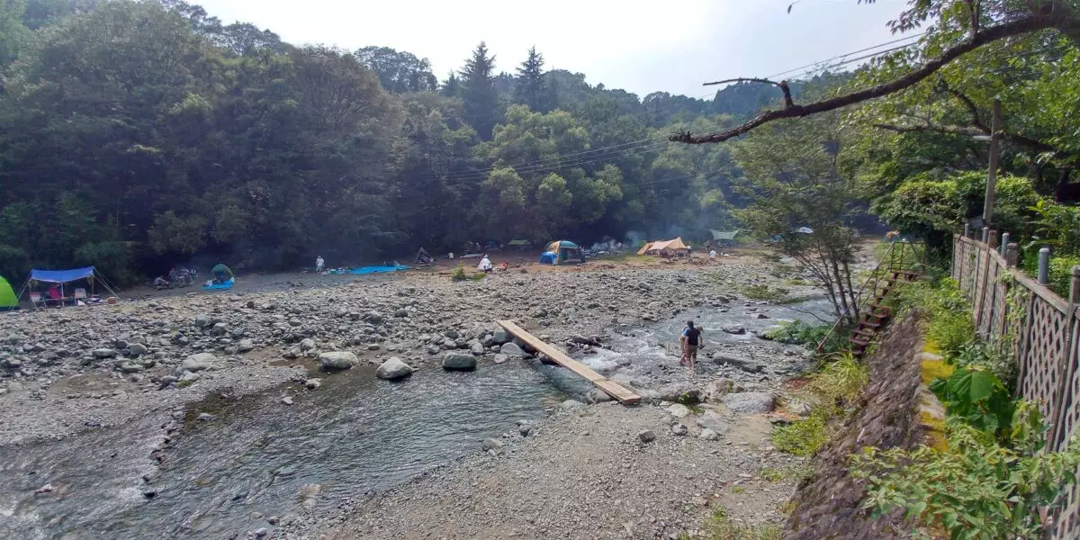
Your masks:
M1017 407L1009 444L963 422L947 426L947 448L867 448L851 474L866 483L864 507L943 527L950 538L1040 538L1039 509L1076 483L1080 444L1041 451L1045 428L1031 404Z

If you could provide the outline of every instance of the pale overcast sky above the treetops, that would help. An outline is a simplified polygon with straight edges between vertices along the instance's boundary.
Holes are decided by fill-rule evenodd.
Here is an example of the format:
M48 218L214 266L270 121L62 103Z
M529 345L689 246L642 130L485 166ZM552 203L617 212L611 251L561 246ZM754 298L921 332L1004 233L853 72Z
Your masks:
M896 39L903 0L610 1L194 0L222 23L253 23L294 44L386 45L431 60L445 79L481 40L513 72L536 45L546 68L639 97L700 97L706 80L768 77Z

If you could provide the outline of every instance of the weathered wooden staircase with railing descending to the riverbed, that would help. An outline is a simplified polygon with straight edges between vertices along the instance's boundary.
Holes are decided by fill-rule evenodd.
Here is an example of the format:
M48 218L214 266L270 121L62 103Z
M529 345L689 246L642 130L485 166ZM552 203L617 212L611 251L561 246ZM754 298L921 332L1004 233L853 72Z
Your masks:
M924 256L916 248L915 244L906 241L896 241L889 246L877 267L854 295L853 305L840 314L836 324L828 332L824 339L818 343L818 353L825 350L825 343L837 330L840 330L852 319L852 313L858 313L854 318L858 322L848 338L850 351L856 359L866 353L866 348L889 323L892 311L886 306L886 298L889 293L900 285L920 279L926 270Z

